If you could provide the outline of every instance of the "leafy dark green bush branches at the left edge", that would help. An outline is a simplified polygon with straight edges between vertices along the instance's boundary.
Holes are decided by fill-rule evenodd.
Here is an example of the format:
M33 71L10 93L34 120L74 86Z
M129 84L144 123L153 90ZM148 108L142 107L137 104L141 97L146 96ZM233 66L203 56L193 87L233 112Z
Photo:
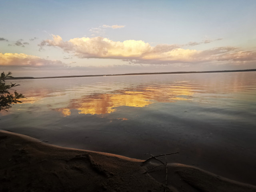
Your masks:
M18 94L16 90L13 88L19 85L14 84L7 84L6 85L6 78L12 77L10 76L12 73L8 72L8 74L5 74L4 72L1 73L0 77L0 111L5 110L7 111L9 108L11 108L12 104L14 103L22 103L19 101L21 98L25 98L24 95ZM10 93L10 90L14 91L14 95Z

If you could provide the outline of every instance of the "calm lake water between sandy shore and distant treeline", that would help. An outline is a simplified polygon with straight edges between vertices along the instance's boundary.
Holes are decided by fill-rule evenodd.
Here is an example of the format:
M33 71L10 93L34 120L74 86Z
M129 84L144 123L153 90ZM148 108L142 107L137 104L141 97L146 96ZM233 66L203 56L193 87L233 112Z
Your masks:
M14 82L14 80L12 80ZM256 72L15 80L1 129L61 146L195 165L256 184Z

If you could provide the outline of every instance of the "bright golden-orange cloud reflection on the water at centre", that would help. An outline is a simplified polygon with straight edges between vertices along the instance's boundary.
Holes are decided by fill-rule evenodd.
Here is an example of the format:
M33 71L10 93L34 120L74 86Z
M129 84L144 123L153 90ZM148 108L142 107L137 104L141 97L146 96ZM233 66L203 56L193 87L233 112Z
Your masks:
M77 109L79 114L108 114L116 111L117 107L146 107L154 102L174 102L189 100L193 92L189 87L146 87L137 90L119 90L118 94L97 94L84 96L73 100L70 109ZM70 115L70 110L61 110L64 116ZM65 112L64 112L65 111Z

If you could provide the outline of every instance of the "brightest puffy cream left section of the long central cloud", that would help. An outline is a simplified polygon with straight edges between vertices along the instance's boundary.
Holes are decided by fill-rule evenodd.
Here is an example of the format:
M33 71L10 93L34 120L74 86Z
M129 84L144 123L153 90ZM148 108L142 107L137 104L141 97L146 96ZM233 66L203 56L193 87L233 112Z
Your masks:
M74 38L64 42L60 36L53 35L53 40L44 40L39 46L57 46L66 52L74 52L79 58L150 58L153 55L168 52L177 48L176 45L150 46L142 40L125 40L115 42L108 38Z

